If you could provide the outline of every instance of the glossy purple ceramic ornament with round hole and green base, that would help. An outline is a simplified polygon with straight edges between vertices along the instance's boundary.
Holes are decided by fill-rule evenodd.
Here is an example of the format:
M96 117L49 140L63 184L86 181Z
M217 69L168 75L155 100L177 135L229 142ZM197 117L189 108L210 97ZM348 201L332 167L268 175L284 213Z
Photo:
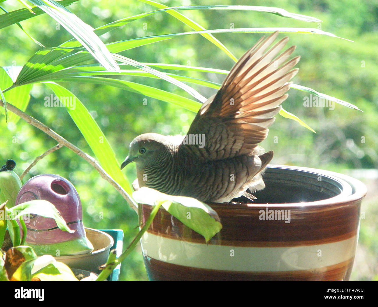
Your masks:
M30 220L25 220L28 229L26 234L28 244L37 245L37 250L40 250L41 254L53 254L53 256L91 251L91 243L85 237L82 223L80 198L70 181L57 175L37 175L22 186L15 204L35 199L47 200L52 203L68 227L75 232L68 233L60 230L54 219L31 214ZM67 244L59 245L62 242ZM60 255L56 255L55 250L58 250ZM37 251L36 253L38 254Z

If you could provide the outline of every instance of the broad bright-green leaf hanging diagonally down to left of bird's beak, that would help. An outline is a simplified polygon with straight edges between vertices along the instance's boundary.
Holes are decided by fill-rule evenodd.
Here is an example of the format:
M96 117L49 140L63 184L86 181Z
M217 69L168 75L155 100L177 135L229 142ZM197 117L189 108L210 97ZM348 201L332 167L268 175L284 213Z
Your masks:
M124 174L121 172L110 144L85 106L73 93L67 90L67 88L52 82L46 82L45 84L54 91L57 97L65 99L68 98L74 102L73 107L66 104L68 114L70 114L77 128L84 136L105 172L107 172L110 177L118 182L118 184L122 186L127 193L131 194L132 189L130 184L125 179ZM60 102L64 103L62 100L60 100Z

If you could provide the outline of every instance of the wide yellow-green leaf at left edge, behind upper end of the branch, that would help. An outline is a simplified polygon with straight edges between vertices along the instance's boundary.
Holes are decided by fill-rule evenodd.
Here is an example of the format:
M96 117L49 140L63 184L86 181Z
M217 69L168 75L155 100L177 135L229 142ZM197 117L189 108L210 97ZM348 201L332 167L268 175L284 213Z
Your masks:
M0 88L10 87L17 78L20 69L20 66L0 67ZM25 111L29 103L29 93L32 86L32 84L26 84L11 88L9 91L6 91L4 93L6 101L19 108L20 110ZM10 113L8 115L8 122L17 123L19 119L20 117L15 115L14 113Z

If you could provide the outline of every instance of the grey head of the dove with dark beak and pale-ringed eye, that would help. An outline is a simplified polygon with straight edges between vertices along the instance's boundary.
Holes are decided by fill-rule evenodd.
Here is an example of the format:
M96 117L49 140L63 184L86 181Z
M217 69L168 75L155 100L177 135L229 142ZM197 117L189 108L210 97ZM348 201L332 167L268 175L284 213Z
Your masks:
M157 133L145 133L137 136L129 147L129 155L121 164L123 169L130 162L135 162L143 168L156 163L167 150L165 136Z

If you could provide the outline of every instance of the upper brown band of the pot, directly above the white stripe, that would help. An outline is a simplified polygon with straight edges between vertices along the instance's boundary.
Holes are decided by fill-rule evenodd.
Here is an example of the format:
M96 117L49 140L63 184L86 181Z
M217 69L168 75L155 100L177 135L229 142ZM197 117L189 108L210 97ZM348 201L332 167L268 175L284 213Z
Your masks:
M267 207L265 205L260 208L244 209L240 206L239 208L224 208L218 204L209 204L217 211L223 226L220 233L209 243L246 246L266 246L272 243L273 246L293 246L297 243L308 245L348 239L356 235L360 204L361 201L357 204L333 206L332 209L317 212L308 209L300 210L293 206L286 207L285 210L290 210L289 223L285 223L284 219L259 219L262 215L269 217L265 214L266 210L268 212L270 210L282 211L282 207L279 206ZM151 206L141 205L142 216L148 217L151 210ZM237 215L234 214L235 211ZM240 229L248 229L248 231L243 232L241 236ZM200 234L183 225L163 208L156 215L148 232L177 240L204 243Z

